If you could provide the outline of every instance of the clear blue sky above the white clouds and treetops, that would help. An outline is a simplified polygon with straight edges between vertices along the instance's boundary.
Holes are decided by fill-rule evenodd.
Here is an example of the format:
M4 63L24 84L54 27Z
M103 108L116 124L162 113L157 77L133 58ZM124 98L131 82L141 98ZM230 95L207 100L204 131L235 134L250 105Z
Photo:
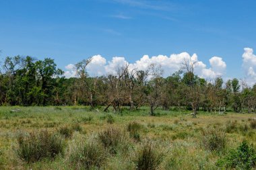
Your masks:
M144 54L196 53L226 77L245 77L245 47L256 49L256 1L0 0L1 58L30 55L70 63L100 54L128 62Z

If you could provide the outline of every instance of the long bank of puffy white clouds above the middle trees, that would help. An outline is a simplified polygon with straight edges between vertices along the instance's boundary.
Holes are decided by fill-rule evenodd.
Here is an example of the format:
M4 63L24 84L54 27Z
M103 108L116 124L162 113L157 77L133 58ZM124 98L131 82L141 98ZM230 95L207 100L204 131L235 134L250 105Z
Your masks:
M189 55L187 52L182 52L180 54L171 54L170 56L158 55L158 56L148 56L144 55L139 60L134 63L129 63L124 57L115 56L112 60L106 62L106 59L100 55L92 56L92 62L88 65L88 73L91 76L101 76L107 75L108 73L116 74L117 69L129 64L129 69L137 69L146 71L148 67L152 64L160 65L164 71L164 77L171 75L175 71L181 69L184 60L198 61L197 54ZM214 56L210 58L210 67L198 61L195 64L195 73L199 77L205 79L213 79L214 77L222 76L226 72L226 63L222 58ZM67 71L65 75L73 75L71 69L73 65L67 65L65 67Z

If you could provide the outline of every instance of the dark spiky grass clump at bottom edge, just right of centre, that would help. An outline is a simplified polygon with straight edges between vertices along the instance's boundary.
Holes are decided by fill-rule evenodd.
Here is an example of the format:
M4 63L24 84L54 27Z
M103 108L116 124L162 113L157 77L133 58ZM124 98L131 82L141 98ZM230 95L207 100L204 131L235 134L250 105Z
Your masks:
M144 143L136 155L135 165L137 170L157 169L162 161L162 154L158 153L151 142Z

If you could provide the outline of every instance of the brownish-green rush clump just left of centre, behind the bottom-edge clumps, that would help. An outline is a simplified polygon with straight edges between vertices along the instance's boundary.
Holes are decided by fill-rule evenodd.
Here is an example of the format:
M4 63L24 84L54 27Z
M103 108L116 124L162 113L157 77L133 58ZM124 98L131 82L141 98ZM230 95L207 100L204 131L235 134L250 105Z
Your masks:
M108 128L99 132L98 138L110 153L116 154L118 149L125 145L126 136L117 128Z

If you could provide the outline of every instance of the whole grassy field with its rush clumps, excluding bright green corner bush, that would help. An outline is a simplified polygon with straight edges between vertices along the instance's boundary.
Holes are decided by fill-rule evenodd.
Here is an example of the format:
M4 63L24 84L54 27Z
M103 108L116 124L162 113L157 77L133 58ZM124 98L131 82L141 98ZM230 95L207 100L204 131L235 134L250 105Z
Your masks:
M101 110L1 107L0 169L226 169L218 160L256 144L255 114Z

